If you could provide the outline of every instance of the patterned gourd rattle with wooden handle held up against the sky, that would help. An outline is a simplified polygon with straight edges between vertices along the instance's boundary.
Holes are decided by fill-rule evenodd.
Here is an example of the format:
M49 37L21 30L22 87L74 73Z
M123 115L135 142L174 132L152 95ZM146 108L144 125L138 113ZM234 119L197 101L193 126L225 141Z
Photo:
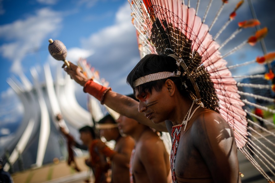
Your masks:
M67 49L66 46L60 40L49 39L49 52L56 60L62 60L66 66L71 69L69 62L66 60Z

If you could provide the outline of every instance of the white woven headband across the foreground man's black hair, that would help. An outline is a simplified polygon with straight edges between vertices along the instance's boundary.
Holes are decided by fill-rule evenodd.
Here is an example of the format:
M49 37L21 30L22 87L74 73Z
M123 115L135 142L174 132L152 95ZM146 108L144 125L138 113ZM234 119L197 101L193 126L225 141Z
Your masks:
M170 78L170 77L179 77L181 75L180 71L175 72L158 72L154 74L148 74L146 76L142 76L134 81L134 87L142 85L144 83L148 83L151 81L156 81L160 79Z

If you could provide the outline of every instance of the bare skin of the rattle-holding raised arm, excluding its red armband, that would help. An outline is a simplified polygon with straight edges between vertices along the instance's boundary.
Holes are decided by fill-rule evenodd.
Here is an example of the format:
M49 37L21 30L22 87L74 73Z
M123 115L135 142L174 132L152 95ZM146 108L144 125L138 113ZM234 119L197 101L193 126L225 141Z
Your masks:
M71 76L71 79L74 79L76 83L84 86L89 79L82 73L78 66L72 64L71 62L69 63L71 69L65 68L65 64L62 66L62 68L64 68L64 70ZM157 131L167 132L164 122L154 124L151 120L148 120L144 114L138 112L138 102L128 96L124 96L109 90L104 95L104 104L117 113L135 119L143 125L154 128Z

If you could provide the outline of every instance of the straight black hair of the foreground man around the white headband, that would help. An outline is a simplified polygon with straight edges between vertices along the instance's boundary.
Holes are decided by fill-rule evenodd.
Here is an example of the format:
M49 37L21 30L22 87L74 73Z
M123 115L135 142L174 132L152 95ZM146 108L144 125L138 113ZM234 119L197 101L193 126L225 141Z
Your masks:
M143 57L133 68L133 70L128 74L127 83L134 90L135 87L133 83L136 79L140 77L146 76L148 74L154 74L165 71L177 73L177 70L181 70L181 68L177 66L176 60L173 57L169 57L167 55L148 54L145 57ZM171 79L176 84L177 89L183 96L189 96L185 88L182 87L182 77L170 77L156 81L151 81L139 85L136 88L139 91L139 93L145 91L151 93L153 88L156 91L160 91L167 79Z

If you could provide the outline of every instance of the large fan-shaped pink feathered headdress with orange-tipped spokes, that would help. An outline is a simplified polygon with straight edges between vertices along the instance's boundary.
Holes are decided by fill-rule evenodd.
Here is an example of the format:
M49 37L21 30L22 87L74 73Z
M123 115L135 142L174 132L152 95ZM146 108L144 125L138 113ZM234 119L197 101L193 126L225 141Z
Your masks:
M267 34L267 28L263 28L252 35L242 44L234 47L225 55L221 55L220 49L223 48L230 40L232 40L243 28L254 27L260 24L256 19L240 22L239 28L232 33L222 44L218 44L215 40L225 30L229 23L236 16L236 11L242 5L243 1L238 2L233 12L229 15L228 21L220 28L214 38L209 34L217 18L219 17L227 0L222 0L222 6L217 11L215 18L210 26L204 24L208 11L212 4L210 0L203 19L197 16L199 3L197 2L196 9L190 8L190 1L188 6L181 0L133 0L129 1L132 9L133 25L137 29L137 38L141 57L144 57L149 53L166 54L176 59L176 63L180 68L181 77L187 78L190 82L187 87L190 96L200 102L204 107L215 110L220 113L222 117L232 127L236 139L238 149L242 151L244 155L253 163L253 165L264 175L268 181L272 181L271 178L264 171L263 166L259 165L263 158L259 158L260 161L255 160L249 153L253 152L255 155L265 156L267 153L261 152L259 146L255 145L255 149L251 149L253 141L248 136L251 133L251 127L247 126L247 121L253 123L251 120L247 120L247 115L253 115L251 112L244 109L245 104L251 105L247 100L241 100L241 96L253 96L256 99L271 100L255 94L247 94L245 92L238 91L238 86L242 86L242 83L237 83L232 76L229 69L240 66L227 67L225 57L234 53L242 46L246 44L255 45L255 43ZM257 58L255 61L246 62L241 65L247 65L249 63L257 62L271 62L274 60L275 54L269 53L263 57ZM162 75L165 73L161 73ZM266 77L272 79L272 72L266 74ZM175 74L174 76L178 76ZM170 77L167 75L166 78ZM142 78L136 82L136 86L156 80L159 77L158 74L146 78ZM253 78L255 76L247 76ZM263 76L261 76L263 77ZM271 78L270 78L271 77ZM245 78L245 77L244 77ZM134 83L135 84L135 83ZM245 84L244 84L245 85ZM251 87L253 87L251 85ZM256 85L254 87L262 87ZM192 89L190 89L192 88ZM268 89L271 87L268 86ZM272 99L274 102L274 99ZM252 104L254 106L263 109L263 106L258 104ZM275 112L275 111L273 111ZM256 123L255 123L256 124ZM254 129L253 129L254 130ZM266 130L266 129L265 129ZM271 133L273 136L274 134ZM274 143L272 143L274 145ZM249 149L250 148L250 149ZM258 154L259 153L259 154ZM273 163L274 163L274 153ZM272 161L270 161L270 155L264 157L266 161L264 165L266 167L274 167ZM270 168L269 168L270 169ZM274 172L273 172L273 175Z

